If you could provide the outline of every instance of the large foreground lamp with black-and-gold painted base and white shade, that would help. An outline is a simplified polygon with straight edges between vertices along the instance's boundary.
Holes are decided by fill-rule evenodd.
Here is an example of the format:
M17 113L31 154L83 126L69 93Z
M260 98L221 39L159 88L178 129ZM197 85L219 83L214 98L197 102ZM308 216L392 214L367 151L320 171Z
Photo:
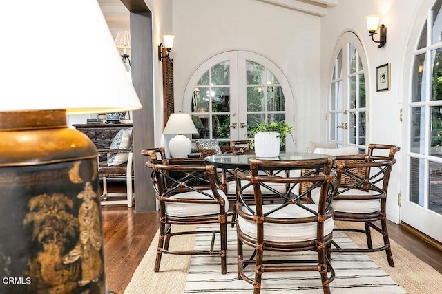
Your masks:
M142 105L97 1L10 1L0 24L0 293L105 293L97 149L66 114Z

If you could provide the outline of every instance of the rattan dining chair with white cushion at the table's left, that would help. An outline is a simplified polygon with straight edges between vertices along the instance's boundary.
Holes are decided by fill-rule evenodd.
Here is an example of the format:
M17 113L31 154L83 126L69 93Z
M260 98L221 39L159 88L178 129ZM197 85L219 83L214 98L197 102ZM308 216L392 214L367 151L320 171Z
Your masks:
M146 166L153 169L153 187L160 206L160 237L154 271L160 271L162 254L219 255L221 273L227 272L227 211L229 201L218 189L216 169L200 159L165 159L155 163L153 158ZM175 164L171 164L175 162ZM172 232L175 225L219 224L218 229ZM211 248L207 250L179 251L169 249L171 238L177 235L211 234ZM214 249L215 235L220 234L220 246Z

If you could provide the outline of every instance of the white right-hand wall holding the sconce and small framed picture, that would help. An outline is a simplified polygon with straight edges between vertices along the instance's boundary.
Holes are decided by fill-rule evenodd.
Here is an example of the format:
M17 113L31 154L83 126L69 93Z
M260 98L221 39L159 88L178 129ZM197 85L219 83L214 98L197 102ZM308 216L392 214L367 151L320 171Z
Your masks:
M396 155L398 162L394 166L390 178L389 198L387 199L387 217L394 222L399 220L397 195L401 192L401 181L406 181L407 146L404 146L405 133L401 132L404 123L399 121L402 103L407 94L403 92L408 85L408 77L404 68L411 67L410 59L405 59L405 51L410 44L410 32L414 26L420 1L403 0L371 0L354 1L340 0L338 6L329 9L329 13L321 20L321 94L328 95L328 85L332 69L332 52L340 34L347 30L356 32L361 39L367 55L369 68L365 76L367 101L369 101L369 143L393 144L402 147ZM434 1L427 1L434 2ZM427 7L426 9L430 8ZM351 13L349 13L351 12ZM387 27L387 44L377 48L367 32L365 16L381 15L381 23ZM378 40L378 34L374 36ZM404 62L405 61L405 62ZM391 90L376 92L376 67L391 63ZM405 100L404 100L405 99ZM325 124L324 124L325 125ZM325 127L323 127L323 136Z

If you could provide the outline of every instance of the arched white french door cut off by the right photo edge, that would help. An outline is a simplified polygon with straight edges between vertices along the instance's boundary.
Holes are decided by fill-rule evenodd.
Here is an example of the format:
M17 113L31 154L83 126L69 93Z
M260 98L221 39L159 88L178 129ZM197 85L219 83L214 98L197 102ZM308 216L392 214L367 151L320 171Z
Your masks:
M442 1L435 1L425 16L424 25L412 35L416 45L407 54L411 66L405 76L411 87L404 101L408 132L403 158L408 172L401 222L442 242L435 225L442 222Z

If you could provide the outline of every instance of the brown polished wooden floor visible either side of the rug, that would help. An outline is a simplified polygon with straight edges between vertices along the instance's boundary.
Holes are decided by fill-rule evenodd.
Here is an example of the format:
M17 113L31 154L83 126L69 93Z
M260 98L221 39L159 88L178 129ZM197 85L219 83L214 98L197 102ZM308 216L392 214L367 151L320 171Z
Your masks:
M107 288L123 293L158 229L157 213L135 213L135 209L123 206L102 207L102 218ZM389 222L388 230L392 240L442 273L441 251L393 222Z

